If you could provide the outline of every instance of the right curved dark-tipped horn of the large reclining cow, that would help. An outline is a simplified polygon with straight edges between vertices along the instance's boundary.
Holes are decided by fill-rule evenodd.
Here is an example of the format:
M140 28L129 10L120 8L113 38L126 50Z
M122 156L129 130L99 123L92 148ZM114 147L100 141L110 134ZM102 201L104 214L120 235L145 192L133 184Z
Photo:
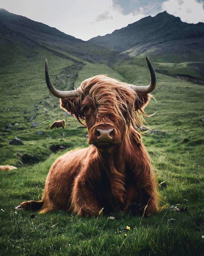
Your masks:
M135 92L150 93L150 92L153 92L156 87L157 78L156 78L154 68L152 67L152 63L150 62L147 56L146 56L146 60L147 60L147 65L151 75L151 82L147 86L128 85L128 87L130 87Z

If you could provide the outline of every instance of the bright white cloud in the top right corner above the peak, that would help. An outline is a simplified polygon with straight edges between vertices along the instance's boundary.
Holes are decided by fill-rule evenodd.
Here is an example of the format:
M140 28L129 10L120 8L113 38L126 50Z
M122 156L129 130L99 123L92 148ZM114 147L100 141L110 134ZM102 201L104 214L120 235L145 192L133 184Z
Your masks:
M204 21L203 2L196 0L167 0L162 3L162 11L179 16L187 23L198 23Z

